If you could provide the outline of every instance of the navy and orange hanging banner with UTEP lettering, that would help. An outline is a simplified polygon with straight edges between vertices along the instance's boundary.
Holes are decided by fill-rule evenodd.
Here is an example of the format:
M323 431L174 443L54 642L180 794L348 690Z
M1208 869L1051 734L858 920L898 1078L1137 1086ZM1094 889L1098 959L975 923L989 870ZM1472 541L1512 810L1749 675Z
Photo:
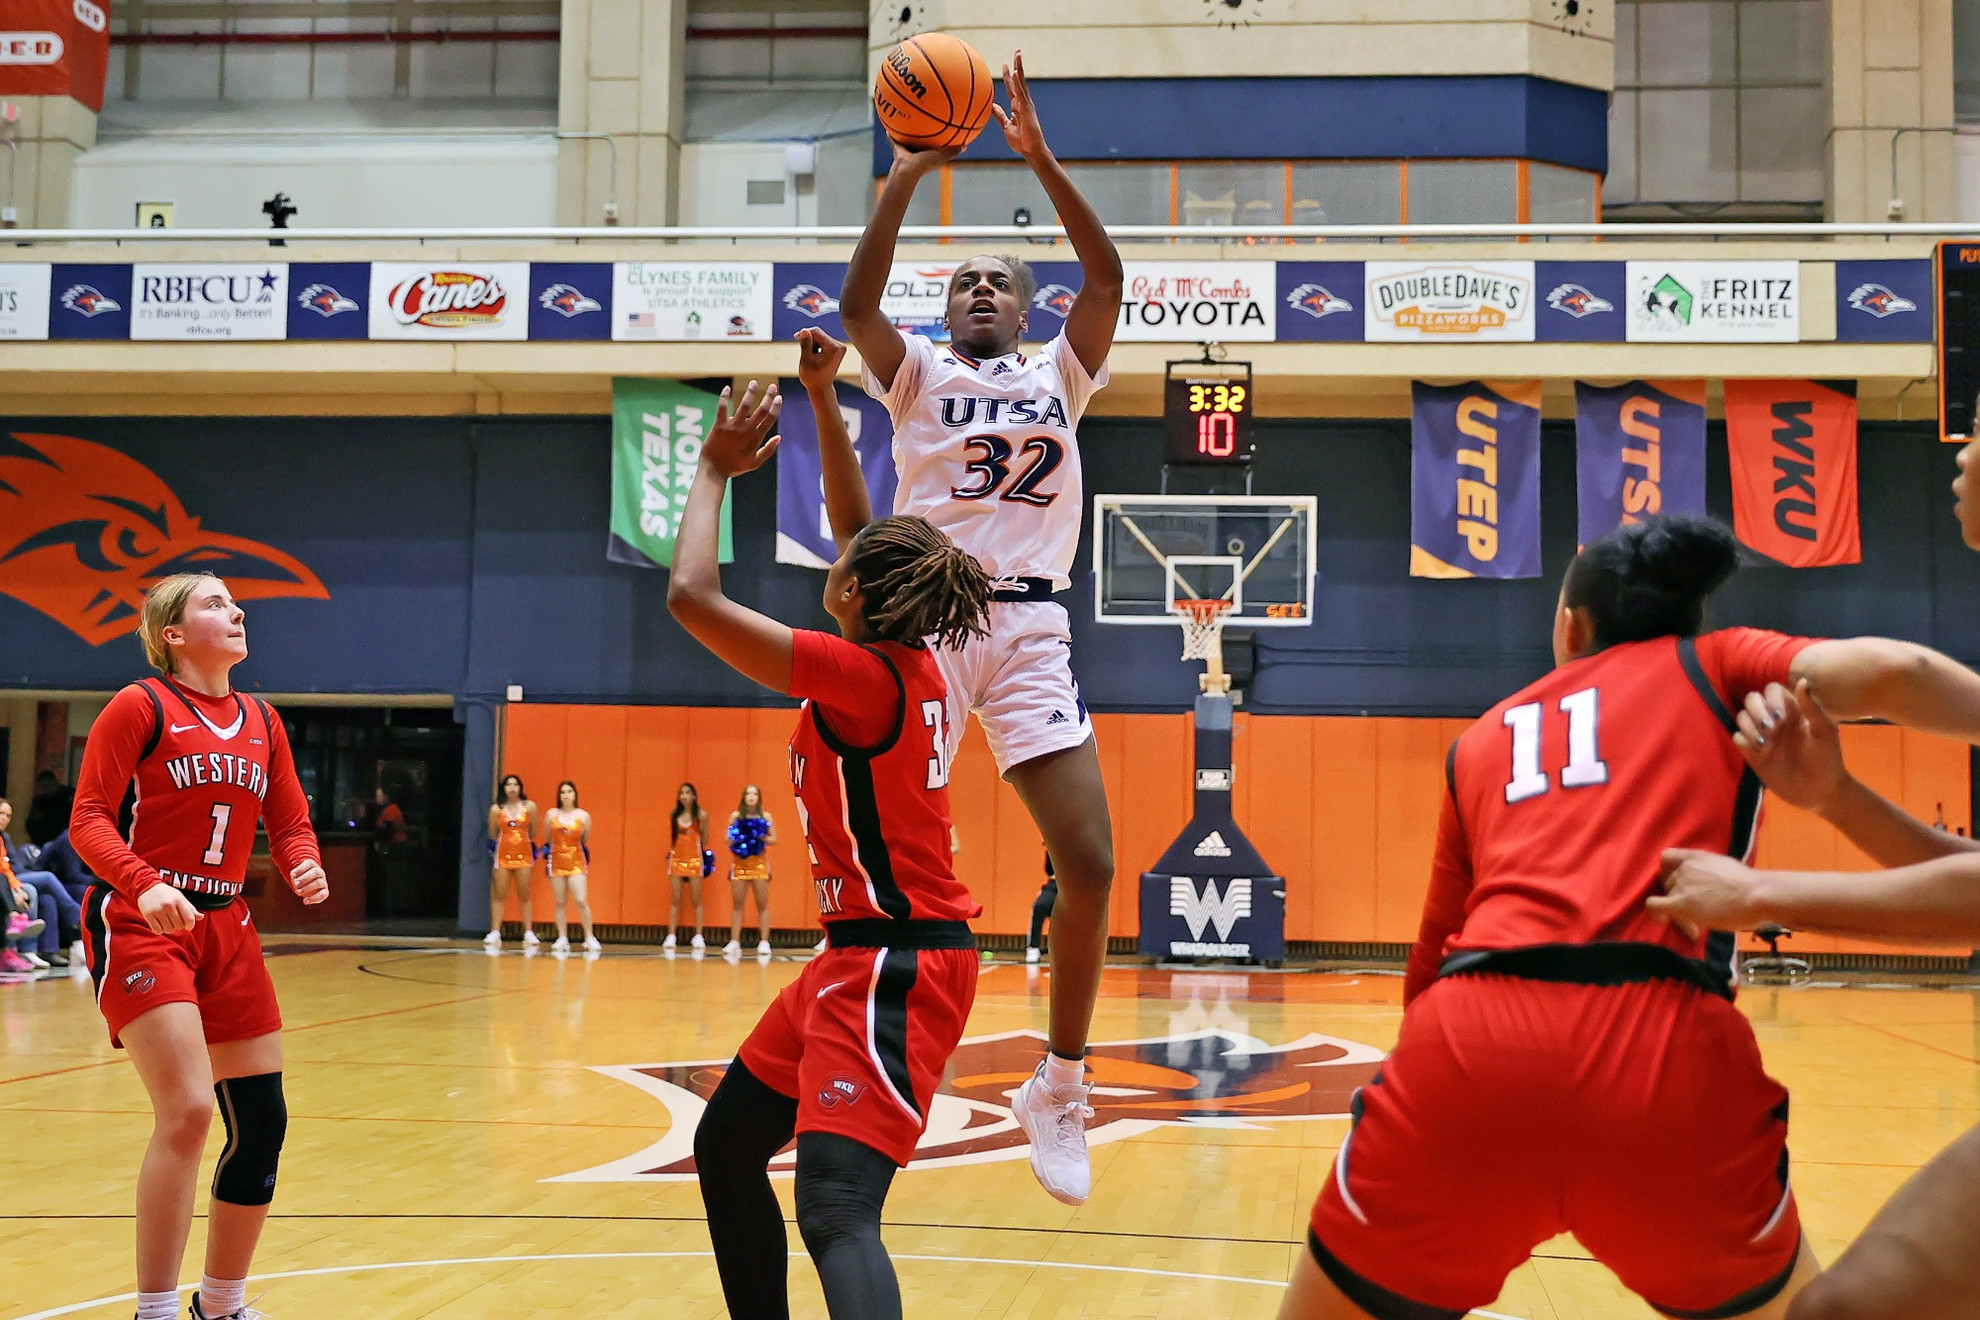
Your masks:
M1410 576L1540 576L1540 382L1410 386Z

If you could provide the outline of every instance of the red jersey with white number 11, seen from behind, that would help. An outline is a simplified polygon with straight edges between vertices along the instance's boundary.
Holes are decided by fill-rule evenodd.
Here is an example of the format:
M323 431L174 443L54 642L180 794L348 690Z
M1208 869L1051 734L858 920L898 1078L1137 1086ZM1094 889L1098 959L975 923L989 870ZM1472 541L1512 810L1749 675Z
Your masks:
M1744 857L1760 782L1732 746L1748 693L1810 645L1752 627L1657 637L1560 665L1451 748L1424 924L1404 997L1447 952L1610 940L1723 960L1643 900L1667 847Z

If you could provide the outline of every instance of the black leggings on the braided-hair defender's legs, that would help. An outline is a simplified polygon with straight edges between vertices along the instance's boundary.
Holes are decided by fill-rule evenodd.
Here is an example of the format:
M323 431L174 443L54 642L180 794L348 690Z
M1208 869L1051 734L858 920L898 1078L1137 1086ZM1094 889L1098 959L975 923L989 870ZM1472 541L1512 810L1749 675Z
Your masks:
M790 1142L798 1102L770 1090L737 1059L695 1128L695 1170L709 1241L733 1320L788 1320L784 1211L770 1158ZM798 1138L798 1233L812 1253L834 1320L899 1320L901 1284L879 1241L879 1211L895 1164L836 1132Z

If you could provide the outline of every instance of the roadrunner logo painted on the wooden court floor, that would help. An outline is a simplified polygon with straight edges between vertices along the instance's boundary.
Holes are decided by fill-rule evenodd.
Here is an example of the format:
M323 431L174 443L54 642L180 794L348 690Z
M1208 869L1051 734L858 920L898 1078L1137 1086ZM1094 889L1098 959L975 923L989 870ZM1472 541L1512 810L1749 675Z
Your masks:
M929 1106L929 1130L911 1170L992 1160L1028 1160L1030 1146L1010 1114L1010 1096L1038 1067L1045 1037L1008 1031L964 1039ZM1164 1126L1253 1128L1261 1122L1346 1118L1354 1088L1374 1077L1382 1051L1331 1035L1287 1045L1239 1031L1204 1029L1144 1041L1111 1041L1087 1051L1093 1122L1087 1142L1119 1142ZM683 1181L695 1176L695 1124L727 1059L598 1067L667 1106L667 1136L645 1150L546 1181ZM840 1079L832 1079L836 1084ZM824 1096L820 1096L824 1100ZM788 1176L792 1152L770 1162Z

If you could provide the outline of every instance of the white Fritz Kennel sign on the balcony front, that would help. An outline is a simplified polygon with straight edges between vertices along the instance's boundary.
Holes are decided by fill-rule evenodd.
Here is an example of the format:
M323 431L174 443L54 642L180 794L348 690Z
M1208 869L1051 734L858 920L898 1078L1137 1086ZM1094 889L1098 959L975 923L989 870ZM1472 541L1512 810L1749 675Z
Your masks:
M1794 344L1800 261L1630 261L1632 344Z

